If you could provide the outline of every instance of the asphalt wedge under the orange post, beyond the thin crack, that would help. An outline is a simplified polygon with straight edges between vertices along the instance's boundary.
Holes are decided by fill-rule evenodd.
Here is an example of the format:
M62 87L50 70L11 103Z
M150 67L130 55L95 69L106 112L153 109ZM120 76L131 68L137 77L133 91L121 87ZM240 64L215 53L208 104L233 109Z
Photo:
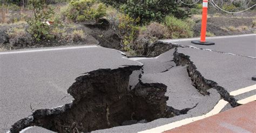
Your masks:
M194 45L191 43L194 39L177 39L177 40L161 40L163 42L173 42L184 46L194 46L197 48L211 49L224 53L232 53L236 55L256 57L256 34L233 35L233 36L217 36L206 38L206 41L215 42L215 45L204 46Z

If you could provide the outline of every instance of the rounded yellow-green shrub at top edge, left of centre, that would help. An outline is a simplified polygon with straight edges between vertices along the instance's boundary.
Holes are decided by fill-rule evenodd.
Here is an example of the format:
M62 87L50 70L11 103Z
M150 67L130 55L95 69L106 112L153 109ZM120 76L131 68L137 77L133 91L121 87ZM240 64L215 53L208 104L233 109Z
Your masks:
M106 6L96 0L79 0L70 2L61 12L73 21L98 20L106 16Z

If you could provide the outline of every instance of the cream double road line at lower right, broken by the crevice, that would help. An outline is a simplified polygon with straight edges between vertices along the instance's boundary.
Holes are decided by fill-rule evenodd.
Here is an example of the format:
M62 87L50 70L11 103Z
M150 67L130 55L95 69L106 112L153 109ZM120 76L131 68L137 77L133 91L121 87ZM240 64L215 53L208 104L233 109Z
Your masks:
M245 88L241 88L241 89L236 90L236 91L232 91L232 92L230 92L230 94L235 96L235 95L246 93L246 92L249 92L249 91L252 91L252 90L256 90L256 85L252 85L252 86L248 86L248 87L245 87ZM239 104L247 104L248 102L255 101L255 100L256 100L256 95L253 95L251 97L239 100L238 103ZM227 104L228 104L227 101L221 99L221 100L219 100L217 105L215 105L214 108L205 115L201 115L201 116L197 116L197 117L190 117L190 118L183 119L183 120L180 120L180 121L176 121L176 122L172 122L172 123L169 123L169 124L161 125L159 127L152 128L152 129L149 129L149 130L139 131L138 133L152 133L152 132L160 133L160 132L164 132L164 131L167 131L167 130L171 130L173 128L180 127L181 125L185 125L185 124L188 124L188 123L192 123L194 121L205 119L206 117L210 117L212 115L220 113L220 111Z

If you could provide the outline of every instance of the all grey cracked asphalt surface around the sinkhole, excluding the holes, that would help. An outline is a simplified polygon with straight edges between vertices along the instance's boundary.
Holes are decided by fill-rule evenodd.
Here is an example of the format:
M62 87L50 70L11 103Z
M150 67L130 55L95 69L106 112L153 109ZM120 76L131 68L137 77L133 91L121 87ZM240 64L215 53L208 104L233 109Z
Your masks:
M174 43L214 50L177 49L178 53L190 56L190 60L196 65L202 76L217 82L228 92L232 92L256 84L251 80L256 72L255 36L254 34L230 38L211 38L209 41L214 41L216 45L210 47L192 45L191 40L178 42L174 40ZM165 41L172 42L172 40ZM139 62L144 64L142 82L157 82L167 85L165 95L170 97L167 105L176 109L191 108L195 104L197 106L189 110L187 114L169 119L158 119L149 123L113 127L93 132L138 132L209 112L221 99L219 93L211 88L208 90L210 95L201 95L190 84L191 79L187 75L185 67L174 67L173 52L172 49L156 58L131 58L131 60L117 50L102 47L0 53L0 131L8 131L16 121L30 115L31 108L52 108L69 103L72 97L66 93L66 90L82 73L100 68L114 69L121 65L142 65ZM140 73L142 72L137 71L134 73L134 77ZM132 77L130 80L136 84L139 79ZM254 94L255 90L237 95L235 98L244 99ZM228 108L231 106L225 107L225 109ZM25 132L46 131L49 130L36 127Z

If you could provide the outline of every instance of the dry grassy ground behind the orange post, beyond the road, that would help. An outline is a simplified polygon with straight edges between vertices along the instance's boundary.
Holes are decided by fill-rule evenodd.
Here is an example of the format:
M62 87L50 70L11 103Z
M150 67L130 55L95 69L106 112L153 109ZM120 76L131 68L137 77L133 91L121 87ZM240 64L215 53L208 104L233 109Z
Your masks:
M244 12L238 14L208 14L207 32L215 36L250 34L256 32L256 12ZM194 36L200 36L201 15L192 17L197 24L194 26Z

